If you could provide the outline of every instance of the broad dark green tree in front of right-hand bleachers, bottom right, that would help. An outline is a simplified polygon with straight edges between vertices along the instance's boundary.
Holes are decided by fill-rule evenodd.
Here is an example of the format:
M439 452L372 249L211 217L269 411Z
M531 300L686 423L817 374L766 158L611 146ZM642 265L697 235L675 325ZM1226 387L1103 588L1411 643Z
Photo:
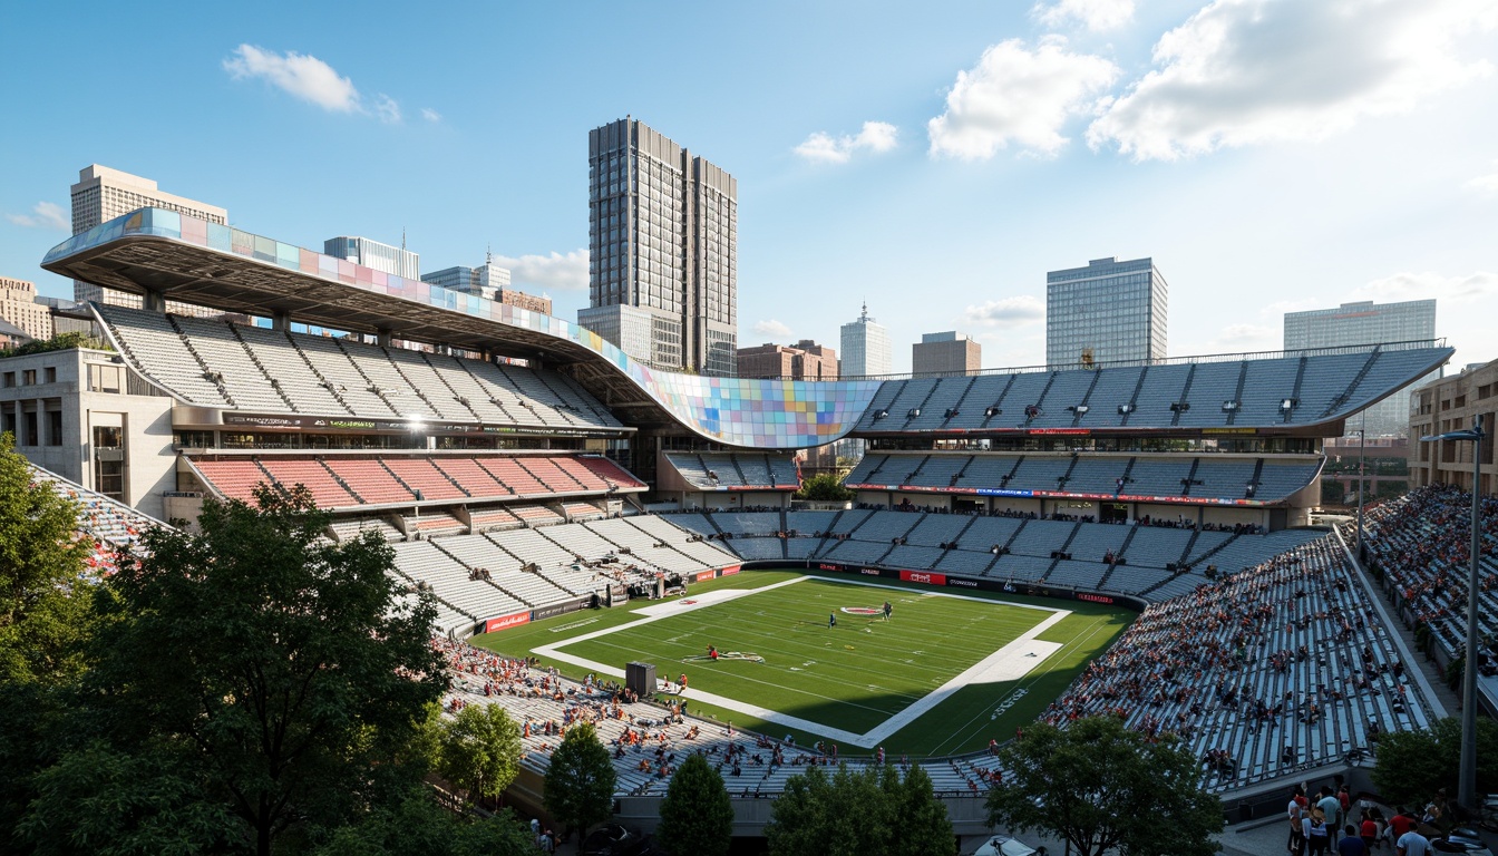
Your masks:
M999 750L996 766L1005 781L989 792L993 826L1046 832L1079 856L1216 853L1221 802L1201 790L1200 766L1174 738L1150 742L1113 717L1035 724Z

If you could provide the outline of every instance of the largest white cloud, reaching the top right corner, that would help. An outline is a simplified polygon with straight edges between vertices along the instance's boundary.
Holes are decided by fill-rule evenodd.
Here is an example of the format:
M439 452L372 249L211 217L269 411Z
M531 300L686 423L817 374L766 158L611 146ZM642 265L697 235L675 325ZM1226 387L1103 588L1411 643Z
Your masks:
M1216 0L1159 37L1155 70L1107 105L1088 142L1174 160L1326 138L1491 73L1458 42L1494 27L1491 0Z

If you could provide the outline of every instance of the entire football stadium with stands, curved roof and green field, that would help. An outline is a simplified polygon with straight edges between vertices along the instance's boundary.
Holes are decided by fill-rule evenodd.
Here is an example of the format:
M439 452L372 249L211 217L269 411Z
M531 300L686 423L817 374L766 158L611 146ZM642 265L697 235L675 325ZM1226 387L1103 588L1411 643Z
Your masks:
M1378 574L1353 525L1312 519L1321 438L1446 364L1440 340L743 379L162 208L42 267L144 303L87 306L108 349L3 367L51 384L6 399L4 430L81 502L94 562L208 499L306 486L328 540L377 534L400 586L436 600L449 703L524 723L520 804L539 805L557 727L587 718L631 825L673 772L634 751L646 735L742 750L724 768L742 835L801 766L885 757L980 835L992 747L1110 714L1183 738L1251 817L1452 714L1402 631L1465 645L1465 531L1446 520L1467 495L1369 511ZM798 453L842 439L866 448L855 498L792 499ZM1495 690L1485 675L1485 706Z

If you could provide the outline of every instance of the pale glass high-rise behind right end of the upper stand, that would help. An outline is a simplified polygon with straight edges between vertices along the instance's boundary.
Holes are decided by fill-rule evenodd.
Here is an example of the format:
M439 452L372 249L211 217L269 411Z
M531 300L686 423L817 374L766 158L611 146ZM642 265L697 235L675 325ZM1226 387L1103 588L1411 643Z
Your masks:
M1338 348L1341 345L1372 345L1435 339L1435 301L1407 300L1404 303L1344 303L1336 309L1311 309L1285 313L1285 349ZM1413 387L1441 376L1440 369L1416 381ZM1402 435L1410 427L1410 400L1395 394L1363 411L1347 423L1348 430L1365 430L1368 436Z

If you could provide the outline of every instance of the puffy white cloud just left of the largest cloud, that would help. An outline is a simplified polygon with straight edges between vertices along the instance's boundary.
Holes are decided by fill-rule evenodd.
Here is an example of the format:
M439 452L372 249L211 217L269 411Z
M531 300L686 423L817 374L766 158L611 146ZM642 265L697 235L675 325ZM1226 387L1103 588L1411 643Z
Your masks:
M1118 76L1112 61L1070 52L1061 36L1046 36L1035 49L1019 39L993 45L974 69L957 72L947 111L927 123L930 153L986 160L1013 141L1055 156L1067 145L1067 120L1091 112L1094 96Z

